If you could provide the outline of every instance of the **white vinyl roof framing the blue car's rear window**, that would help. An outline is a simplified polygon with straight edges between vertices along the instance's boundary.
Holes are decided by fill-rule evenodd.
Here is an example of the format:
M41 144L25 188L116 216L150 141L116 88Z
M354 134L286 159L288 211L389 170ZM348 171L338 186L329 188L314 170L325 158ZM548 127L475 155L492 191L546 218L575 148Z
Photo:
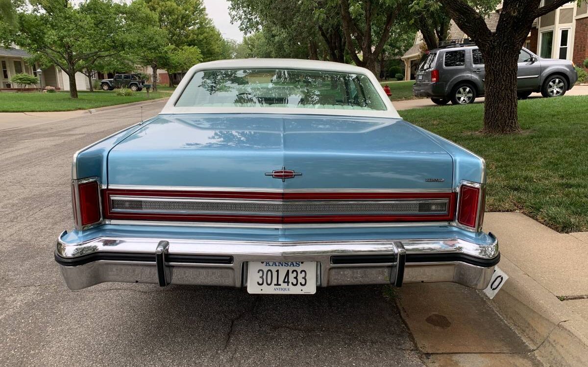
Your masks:
M192 79L192 76L201 70L222 70L222 69L297 69L297 70L320 70L328 72L354 73L362 74L369 78L373 86L379 93L386 111L372 110L343 110L343 109L296 109L291 107L176 107L175 103L181 96L186 85ZM302 59L231 59L216 60L211 62L199 63L192 66L182 81L176 87L175 92L161 110L161 114L188 114L188 113L282 113L298 115L335 115L335 116L369 116L369 117L392 117L400 118L392 102L382 86L368 69L359 66L349 65L340 62L302 60Z

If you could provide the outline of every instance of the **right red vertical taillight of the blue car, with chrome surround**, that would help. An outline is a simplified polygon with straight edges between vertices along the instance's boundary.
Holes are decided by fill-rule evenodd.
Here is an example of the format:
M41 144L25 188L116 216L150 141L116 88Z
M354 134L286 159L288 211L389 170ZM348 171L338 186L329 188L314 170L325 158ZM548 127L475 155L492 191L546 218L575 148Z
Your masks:
M482 230L486 192L476 183L462 183L457 198L457 223Z

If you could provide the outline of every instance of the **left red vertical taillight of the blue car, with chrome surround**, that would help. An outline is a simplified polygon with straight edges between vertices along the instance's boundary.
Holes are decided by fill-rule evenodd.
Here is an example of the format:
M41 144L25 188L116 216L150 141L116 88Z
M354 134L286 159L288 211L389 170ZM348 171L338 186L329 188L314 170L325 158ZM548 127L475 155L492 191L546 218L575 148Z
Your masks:
M72 181L72 200L75 227L78 230L102 222L98 179Z

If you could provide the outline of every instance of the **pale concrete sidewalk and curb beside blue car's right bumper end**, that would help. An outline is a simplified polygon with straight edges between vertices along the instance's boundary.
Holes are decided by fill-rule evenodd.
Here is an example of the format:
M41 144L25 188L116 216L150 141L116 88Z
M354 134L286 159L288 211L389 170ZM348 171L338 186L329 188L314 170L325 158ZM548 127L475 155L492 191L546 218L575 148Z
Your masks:
M487 213L509 275L493 304L546 365L588 363L588 233L562 234L520 213Z

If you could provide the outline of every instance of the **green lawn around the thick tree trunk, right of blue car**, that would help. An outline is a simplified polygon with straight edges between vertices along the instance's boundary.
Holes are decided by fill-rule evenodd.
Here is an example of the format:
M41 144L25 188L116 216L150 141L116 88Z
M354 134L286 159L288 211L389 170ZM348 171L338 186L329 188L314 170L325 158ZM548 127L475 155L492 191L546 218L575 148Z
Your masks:
M483 104L401 111L487 163L487 211L516 211L554 230L588 231L588 96L519 101L523 134L482 136Z

